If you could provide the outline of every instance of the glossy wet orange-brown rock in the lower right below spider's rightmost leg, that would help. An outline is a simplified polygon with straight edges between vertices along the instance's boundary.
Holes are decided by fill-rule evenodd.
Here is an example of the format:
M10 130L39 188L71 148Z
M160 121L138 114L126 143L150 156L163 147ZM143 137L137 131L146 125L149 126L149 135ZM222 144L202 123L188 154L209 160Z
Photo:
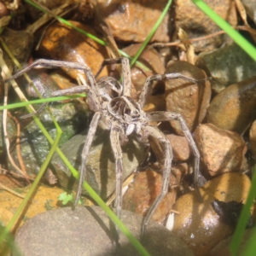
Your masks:
M209 255L212 247L235 230L219 221L211 202L218 199L245 203L250 185L246 175L230 172L215 177L200 189L203 203L198 201L195 191L181 196L175 204L175 210L180 214L175 215L172 232L182 238L195 255Z

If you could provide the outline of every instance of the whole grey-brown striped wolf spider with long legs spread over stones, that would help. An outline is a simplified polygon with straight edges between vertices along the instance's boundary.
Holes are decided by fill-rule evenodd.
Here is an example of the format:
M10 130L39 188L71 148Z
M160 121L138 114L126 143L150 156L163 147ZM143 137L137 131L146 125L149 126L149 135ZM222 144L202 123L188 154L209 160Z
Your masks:
M96 82L96 78L102 72L102 68L106 65L111 64L121 64L122 66L122 81L119 83L117 79L113 77L103 77ZM189 80L190 82L196 83L198 80L190 79L183 76L180 73L166 73L157 74L146 79L143 86L143 90L139 96L138 102L131 99L131 69L129 66L129 60L125 57L117 59L107 59L102 62L98 73L94 77L87 67L80 63L67 62L67 61L49 61L49 60L38 60L32 63L29 67L26 67L19 73L16 73L11 79L16 79L21 74L26 73L28 70L37 66L46 67L67 67L73 69L83 70L86 78L87 84L79 85L67 90L57 90L52 93L51 96L64 96L78 94L82 92L87 93L87 102L90 110L94 112L92 120L90 122L90 129L86 141L84 143L84 148L81 155L81 166L80 166L80 177L79 177L79 189L76 196L74 206L78 204L79 197L81 195L82 184L84 182L85 176L85 165L86 159L89 154L90 145L93 141L93 137L96 133L96 127L99 125L102 129L110 131L110 141L113 149L113 155L115 159L115 172L116 172L116 199L115 207L116 214L120 218L121 207L122 207L122 149L121 145L128 141L128 136L131 133L137 134L137 140L143 143L148 142L148 138L154 137L159 141L164 148L164 160L163 160L163 182L161 186L160 195L156 198L153 205L149 208L148 213L145 218L143 218L141 237L145 233L145 228L148 224L149 219L152 217L155 209L159 206L160 201L166 195L169 184L169 177L172 167L172 146L170 141L166 138L164 133L160 131L156 126L149 125L149 122L162 122L171 119L177 119L181 125L184 136L188 139L189 145L193 150L195 155L195 169L194 169L194 183L195 189L197 189L198 195L200 196L199 190L197 188L197 179L199 175L199 160L200 155L198 149L195 146L194 139L186 125L185 120L179 113L156 111L153 113L145 113L143 111L143 106L150 91L150 87L153 81L160 81L162 79L177 79L182 78ZM7 81L9 81L8 79ZM6 82L7 82L6 81Z

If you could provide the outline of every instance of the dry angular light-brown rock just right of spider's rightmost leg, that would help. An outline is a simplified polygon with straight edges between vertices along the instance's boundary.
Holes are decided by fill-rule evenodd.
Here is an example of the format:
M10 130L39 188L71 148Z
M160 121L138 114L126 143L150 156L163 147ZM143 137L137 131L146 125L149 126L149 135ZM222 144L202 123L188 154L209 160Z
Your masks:
M219 129L215 125L200 125L195 130L195 143L207 174L237 172L241 168L246 143L236 133Z

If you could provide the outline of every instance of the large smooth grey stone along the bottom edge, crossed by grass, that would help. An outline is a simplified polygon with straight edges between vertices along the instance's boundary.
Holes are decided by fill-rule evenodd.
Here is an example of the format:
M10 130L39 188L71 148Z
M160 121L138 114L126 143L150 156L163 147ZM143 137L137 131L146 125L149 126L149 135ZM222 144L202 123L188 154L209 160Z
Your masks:
M122 221L137 238L143 218L122 211ZM38 214L26 222L15 244L26 256L113 255L109 218L100 207L69 207ZM121 234L116 255L140 255ZM160 224L149 222L143 247L150 255L193 256L189 248ZM18 256L18 254L14 254Z

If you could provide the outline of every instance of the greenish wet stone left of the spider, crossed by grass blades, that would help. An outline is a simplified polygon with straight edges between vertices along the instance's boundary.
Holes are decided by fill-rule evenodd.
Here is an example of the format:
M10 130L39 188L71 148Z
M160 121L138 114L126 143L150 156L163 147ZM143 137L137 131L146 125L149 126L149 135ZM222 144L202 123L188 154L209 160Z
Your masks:
M84 129L88 125L89 112L87 109L79 108L75 101L66 104L55 104L49 106L51 113L61 127L62 134L58 146L61 147L68 139ZM49 132L50 137L55 138L56 128L49 113L45 110L39 114L39 118ZM35 175L39 172L40 166L49 154L50 144L38 125L32 121L20 133L20 154L28 175ZM16 165L19 165L16 148L11 152ZM17 172L9 163L9 170Z

